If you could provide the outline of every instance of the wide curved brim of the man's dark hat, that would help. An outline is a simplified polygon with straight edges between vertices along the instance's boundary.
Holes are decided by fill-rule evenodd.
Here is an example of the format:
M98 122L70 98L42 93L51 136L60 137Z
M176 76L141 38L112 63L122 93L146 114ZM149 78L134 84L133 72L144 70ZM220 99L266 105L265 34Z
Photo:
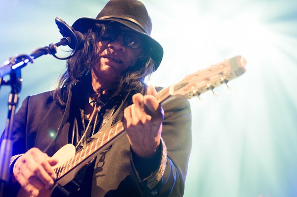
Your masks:
M91 26L95 23L107 24L111 21L119 22L128 28L138 32L142 37L146 40L146 43L149 44L151 48L151 58L155 61L155 70L160 66L162 58L163 58L163 47L159 42L153 39L150 35L147 35L143 32L143 30L135 23L131 22L130 20L125 20L121 18L108 18L108 19L95 19L95 18L88 18L82 17L77 19L73 24L72 27L76 31L85 33Z

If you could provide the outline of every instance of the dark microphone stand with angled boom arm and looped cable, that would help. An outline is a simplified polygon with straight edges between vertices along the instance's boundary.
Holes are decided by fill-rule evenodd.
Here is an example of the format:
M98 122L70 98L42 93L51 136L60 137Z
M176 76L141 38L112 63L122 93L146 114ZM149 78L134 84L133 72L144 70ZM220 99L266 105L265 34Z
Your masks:
M65 23L65 25L67 24ZM67 30L69 28L69 26L63 27L67 28ZM75 32L73 32L72 29L70 30L69 34L70 35L67 35L67 37L63 37L61 41L56 44L51 43L49 46L38 48L32 51L30 55L16 55L15 57L10 58L3 65L0 66L0 88L3 85L11 87L11 93L8 97L8 116L6 121L6 127L0 145L0 197L3 196L4 187L9 182L9 165L13 147L13 141L11 139L12 127L14 122L15 110L18 104L18 93L21 91L21 68L26 66L29 62L33 64L33 59L39 58L45 54L52 54L55 58L59 60L66 60L71 58L79 49L79 41ZM75 39L73 40L70 37ZM62 45L69 45L70 42L73 44L73 41L75 42L75 48L68 57L59 58L55 55L55 53L57 53L57 47ZM10 75L10 79L4 80L3 76L7 74Z

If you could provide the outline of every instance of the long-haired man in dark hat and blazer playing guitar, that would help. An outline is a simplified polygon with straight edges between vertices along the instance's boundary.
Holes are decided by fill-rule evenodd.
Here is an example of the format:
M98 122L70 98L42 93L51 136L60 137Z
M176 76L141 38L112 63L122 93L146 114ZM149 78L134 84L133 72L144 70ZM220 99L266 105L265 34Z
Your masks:
M72 27L84 34L84 48L68 60L56 90L27 97L16 114L8 188L17 182L33 196L51 189L55 152L68 143L84 149L101 128L122 120L127 135L81 168L64 187L69 195L182 196L190 107L184 98L161 106L145 85L163 57L145 6L111 0L95 19L79 18Z

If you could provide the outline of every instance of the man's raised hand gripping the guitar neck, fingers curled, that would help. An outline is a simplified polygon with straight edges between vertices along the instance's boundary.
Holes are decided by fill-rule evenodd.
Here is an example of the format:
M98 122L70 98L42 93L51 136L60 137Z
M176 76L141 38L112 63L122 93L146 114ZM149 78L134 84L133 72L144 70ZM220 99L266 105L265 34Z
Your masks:
M156 154L160 145L164 111L155 98L153 86L147 88L145 96L135 94L133 104L124 111L124 127L134 153L144 159Z

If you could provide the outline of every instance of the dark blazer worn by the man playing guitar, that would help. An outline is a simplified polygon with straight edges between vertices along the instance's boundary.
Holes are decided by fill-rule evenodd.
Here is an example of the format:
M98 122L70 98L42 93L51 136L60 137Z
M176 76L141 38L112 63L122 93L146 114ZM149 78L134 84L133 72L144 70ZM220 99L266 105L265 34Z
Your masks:
M69 101L68 101L69 104ZM133 159L127 136L121 137L104 153L104 161L98 162L92 177L92 193L96 196L182 196L184 193L188 159L191 150L191 111L187 99L171 97L162 103L165 111L163 122L163 146L167 148L166 167L161 180L151 188L147 178L141 177L150 166ZM15 116L13 129L13 155L25 153L37 147L52 156L68 143L72 106L62 109L51 92L28 96ZM166 148L165 148L166 147ZM163 154L160 153L162 156ZM97 165L104 165L100 172ZM148 162L150 163L150 162ZM161 165L160 159L157 161ZM159 169L159 168L158 168ZM157 170L150 176L158 176Z

